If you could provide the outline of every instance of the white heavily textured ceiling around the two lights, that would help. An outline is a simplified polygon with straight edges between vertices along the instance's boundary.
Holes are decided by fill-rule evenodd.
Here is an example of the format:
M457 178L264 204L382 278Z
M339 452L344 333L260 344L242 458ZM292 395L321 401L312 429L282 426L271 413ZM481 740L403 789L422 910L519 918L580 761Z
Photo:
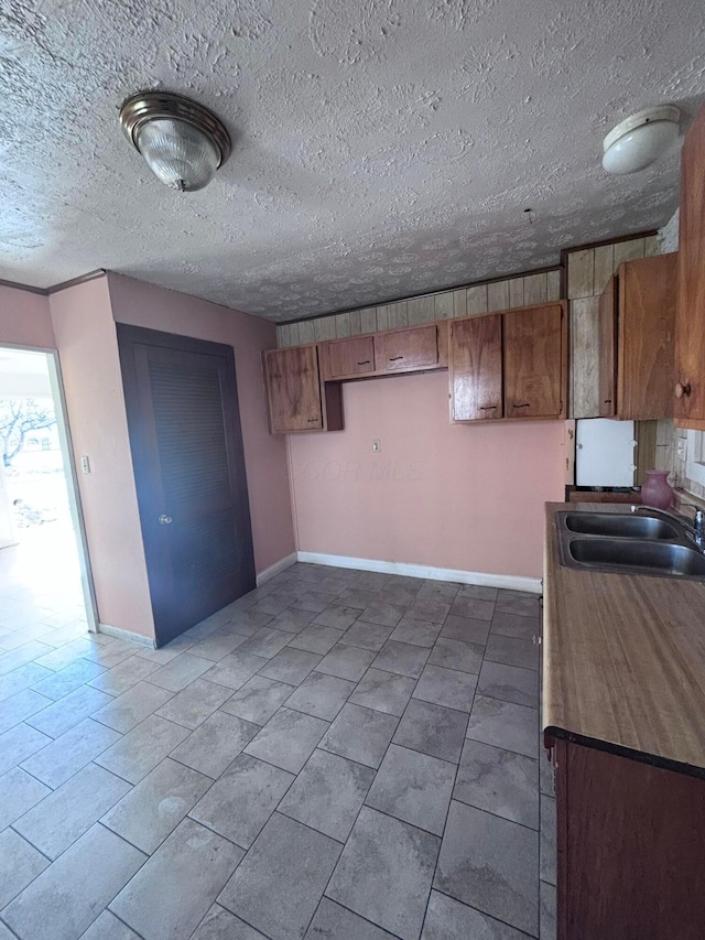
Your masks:
M601 139L692 118L704 50L702 0L0 0L0 278L289 320L553 264L673 212L677 148L617 177ZM120 133L158 87L234 137L202 192Z

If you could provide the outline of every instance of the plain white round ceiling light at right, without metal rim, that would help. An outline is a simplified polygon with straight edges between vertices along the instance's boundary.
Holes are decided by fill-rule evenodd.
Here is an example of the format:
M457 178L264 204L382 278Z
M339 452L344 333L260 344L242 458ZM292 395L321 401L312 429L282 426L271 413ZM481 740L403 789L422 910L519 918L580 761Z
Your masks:
M608 173L637 173L654 163L679 136L681 112L673 105L647 108L612 128L603 142Z

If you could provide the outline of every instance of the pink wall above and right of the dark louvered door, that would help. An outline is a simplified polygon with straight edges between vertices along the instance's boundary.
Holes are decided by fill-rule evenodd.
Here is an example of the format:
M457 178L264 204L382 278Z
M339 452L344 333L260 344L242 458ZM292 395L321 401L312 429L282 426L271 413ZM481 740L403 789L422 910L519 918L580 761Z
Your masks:
M226 343L235 348L254 568L295 550L284 439L269 434L261 352L276 346L272 323L175 291L108 274L118 323Z

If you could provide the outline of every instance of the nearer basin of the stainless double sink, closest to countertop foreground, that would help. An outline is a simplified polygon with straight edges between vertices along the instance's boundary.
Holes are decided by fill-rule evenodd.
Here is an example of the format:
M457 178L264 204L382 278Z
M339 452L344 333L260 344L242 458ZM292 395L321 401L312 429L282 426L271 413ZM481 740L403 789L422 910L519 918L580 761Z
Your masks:
M660 520L653 520L660 521ZM575 538L567 544L573 563L625 574L705 577L705 555L683 544L664 541Z

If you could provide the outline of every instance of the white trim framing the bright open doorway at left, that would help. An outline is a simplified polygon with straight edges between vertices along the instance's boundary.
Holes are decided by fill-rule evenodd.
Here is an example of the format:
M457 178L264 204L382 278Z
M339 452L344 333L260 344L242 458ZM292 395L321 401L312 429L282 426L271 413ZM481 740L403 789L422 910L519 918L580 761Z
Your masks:
M24 353L43 353L46 357L48 379L50 385L52 387L52 398L54 400L54 411L56 413L56 426L58 431L58 440L62 451L62 460L64 464L64 475L66 478L66 489L68 493L68 507L70 511L74 534L76 537L76 548L78 550L78 563L80 566L80 585L84 593L86 620L88 622L88 629L94 634L98 633L98 606L96 603L96 592L93 583L90 557L88 554L86 526L84 522L84 515L80 506L78 477L76 475L76 464L74 461L74 449L72 446L70 429L68 425L68 415L66 412L66 399L64 397L64 385L62 381L62 370L61 363L58 360L58 352L56 349L46 349L37 346L18 346L13 343L0 343L0 347L4 349L19 349Z

